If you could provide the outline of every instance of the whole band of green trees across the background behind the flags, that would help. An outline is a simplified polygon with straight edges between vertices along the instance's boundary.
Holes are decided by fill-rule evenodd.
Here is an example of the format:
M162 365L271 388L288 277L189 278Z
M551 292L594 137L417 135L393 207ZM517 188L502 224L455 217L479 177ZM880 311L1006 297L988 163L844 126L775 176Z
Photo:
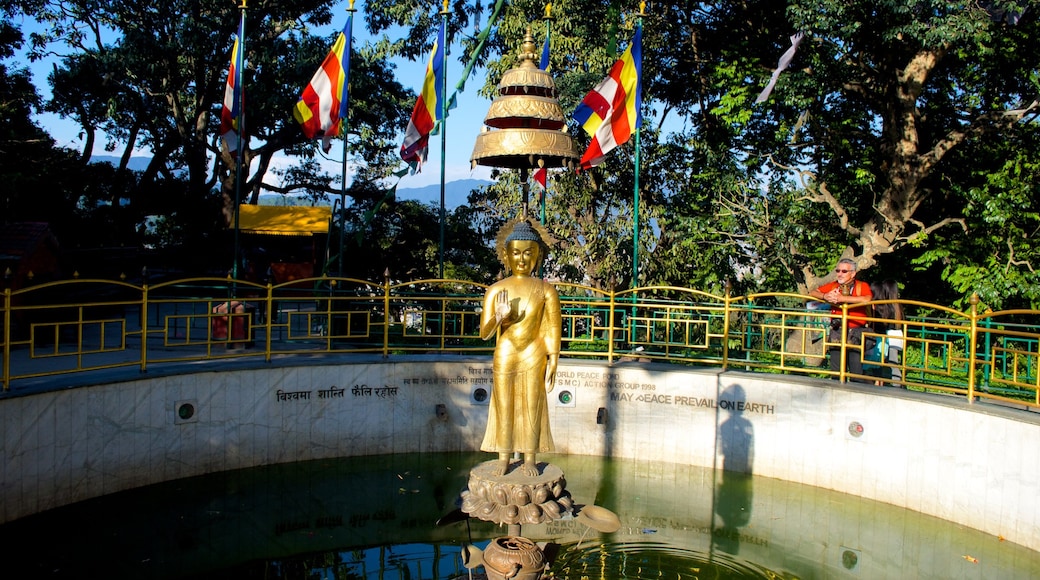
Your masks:
M495 4L451 0L452 57L468 56ZM359 215L374 208L380 184L398 164L398 135L413 101L388 58L423 59L441 8L406 0L364 7L359 16L370 31L399 37L355 47L348 127L357 169L346 195ZM601 288L806 291L846 254L863 278L900 280L910 297L927 291L930 300L957 301L978 292L995 307L1038 304L1037 9L968 0L671 0L650 3L645 15L635 8L554 3L551 74L568 114L642 19L644 126L638 176L632 141L591 172L551 172L549 275ZM543 9L542 1L509 2L479 58L488 72L482 94L493 97L502 73L517 64L528 28L543 37ZM192 212L213 211L220 204L214 190L225 205L234 191L234 160L222 156L213 137L234 3L27 0L4 10L47 23L29 39L33 56L55 47L69 54L50 78L56 97L48 110L77 121L88 140L99 130L111 135L106 146L113 152L147 148L155 155L140 175L73 168L73 155L35 140L45 136L26 122L38 98L24 75L8 71L4 97L22 100L0 103L11 122L5 138L41 149L25 149L38 165L3 167L5 183L17 186L7 208L28 215L33 200L46 200L70 222L103 223L88 233L99 240L136 239L144 216L156 214L167 216L171 236L217 236L218 220ZM246 126L254 140L245 160L254 173L244 185L252 200L264 189L316 200L342 188L340 176L321 170L315 143L304 141L289 115L331 43L308 28L336 18L331 5L313 0L250 5ZM805 37L790 67L769 99L755 103L797 32ZM0 27L0 54L11 53L11 33L8 24ZM588 135L573 124L569 130L583 151ZM298 162L271 169L283 154ZM53 179L57 172L69 183ZM42 180L27 177L33 174L53 182L38 197L33 187ZM496 178L452 213L446 273L483 280L498 271L488 259L491 240L517 215L521 184L515 172ZM395 264L416 275L436 271L438 236L430 226L438 216L404 205L375 215L353 225L352 234L365 232L361 271L378 278Z

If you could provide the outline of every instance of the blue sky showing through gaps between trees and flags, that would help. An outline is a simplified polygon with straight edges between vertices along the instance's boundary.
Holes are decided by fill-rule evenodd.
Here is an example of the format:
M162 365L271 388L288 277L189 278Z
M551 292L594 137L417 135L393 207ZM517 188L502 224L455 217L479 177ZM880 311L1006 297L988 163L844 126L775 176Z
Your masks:
M333 22L327 27L314 28L311 32L316 35L327 36L340 30L344 23L343 19L345 19L347 6L348 2L346 0L338 2L334 7L334 14L340 15L338 22ZM365 2L363 0L355 3L355 8L358 10L354 23L354 43L356 48L363 45L367 41L372 39L372 36L368 34L367 30L365 30L364 23L362 22L364 7ZM26 34L37 26L31 19L23 19L21 22L16 22L16 24L20 25L23 33ZM401 33L407 32L401 31ZM519 43L519 39L517 42ZM461 50L461 47L448 47L448 94L451 93L460 80L459 75L463 69L463 63L459 62L459 59L462 56ZM422 84L422 80L425 75L426 60L428 57L428 54L424 55L421 61L410 61L406 59L394 60L398 82L406 87L411 88L414 94L418 94ZM29 62L28 59L24 57L16 57L15 59L16 67L29 68L33 75L33 82L36 85L36 89L45 99L50 97L50 87L47 84L47 75L51 70L52 63L53 60ZM317 70L319 64L320 62L314 63L315 70ZM477 95L477 89L484 84L484 75L485 73L483 70L474 72L473 77L466 83L466 90L458 96L458 108L449 113L444 132L447 136L445 156L447 162L445 163L444 172L445 181L450 182L461 179L490 180L490 168L478 166L475 169L470 169L469 163L469 156L473 151L473 143L476 140L476 135L479 133L480 127L484 124L484 116L487 114L488 108L491 106L491 101L489 99L482 98ZM301 89L303 89L303 87L301 87ZM249 90L248 87L246 90ZM289 106L291 105L287 105L287 110ZM57 140L59 146L75 150L81 150L83 148L84 139L79 135L79 129L75 123L64 121L51 113L36 114L35 121ZM400 127L398 138L404 136L404 132L405 127ZM440 183L441 138L441 136L431 137L430 157L423 166L422 173L405 177L400 182L400 188L416 188ZM105 152L103 150L104 141L104 138L98 139L95 155L112 155L111 152ZM333 149L330 151L330 156L333 159L341 158L341 140L334 141ZM116 151L114 154L119 155L119 153L120 152ZM141 151L139 152L139 155L148 156L149 152ZM332 161L329 162L329 165L331 170L338 175L338 162ZM271 180L274 179L274 176L268 176L267 179ZM347 179L350 179L349 176L347 176Z

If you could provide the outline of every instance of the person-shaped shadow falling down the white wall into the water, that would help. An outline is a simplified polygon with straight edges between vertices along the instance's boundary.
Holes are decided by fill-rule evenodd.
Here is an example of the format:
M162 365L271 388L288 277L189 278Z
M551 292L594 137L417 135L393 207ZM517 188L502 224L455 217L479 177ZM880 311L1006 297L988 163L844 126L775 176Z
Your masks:
M755 457L755 428L744 416L747 402L744 388L733 385L719 397L719 407L729 417L719 425L722 473L716 474L712 548L736 555L740 551L740 528L751 522L752 464ZM721 521L721 526L717 524Z

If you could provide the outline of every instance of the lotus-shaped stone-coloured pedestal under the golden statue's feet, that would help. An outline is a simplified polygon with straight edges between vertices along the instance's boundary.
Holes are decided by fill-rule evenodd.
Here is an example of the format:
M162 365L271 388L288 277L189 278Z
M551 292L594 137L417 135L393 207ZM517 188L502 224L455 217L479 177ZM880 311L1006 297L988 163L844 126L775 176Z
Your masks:
M567 492L564 471L539 464L539 474L508 470L498 475L498 462L485 462L469 472L469 486L462 493L462 510L499 525L545 524L571 512L574 502ZM511 466L512 468L512 466Z

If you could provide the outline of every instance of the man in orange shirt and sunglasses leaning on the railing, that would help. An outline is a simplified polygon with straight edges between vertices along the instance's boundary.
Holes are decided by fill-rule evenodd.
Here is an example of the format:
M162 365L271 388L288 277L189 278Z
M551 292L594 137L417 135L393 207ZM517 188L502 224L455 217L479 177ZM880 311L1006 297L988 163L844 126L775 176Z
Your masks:
M858 305L868 302L874 298L870 285L856 280L856 262L850 258L838 260L834 267L836 279L809 292L814 298L820 298L831 305L831 331L827 336L828 355L831 370L838 372L841 364L841 305ZM863 374L861 345L863 328L866 327L866 307L849 308L849 334L846 344L846 369L853 374ZM861 380L861 379L857 379Z

